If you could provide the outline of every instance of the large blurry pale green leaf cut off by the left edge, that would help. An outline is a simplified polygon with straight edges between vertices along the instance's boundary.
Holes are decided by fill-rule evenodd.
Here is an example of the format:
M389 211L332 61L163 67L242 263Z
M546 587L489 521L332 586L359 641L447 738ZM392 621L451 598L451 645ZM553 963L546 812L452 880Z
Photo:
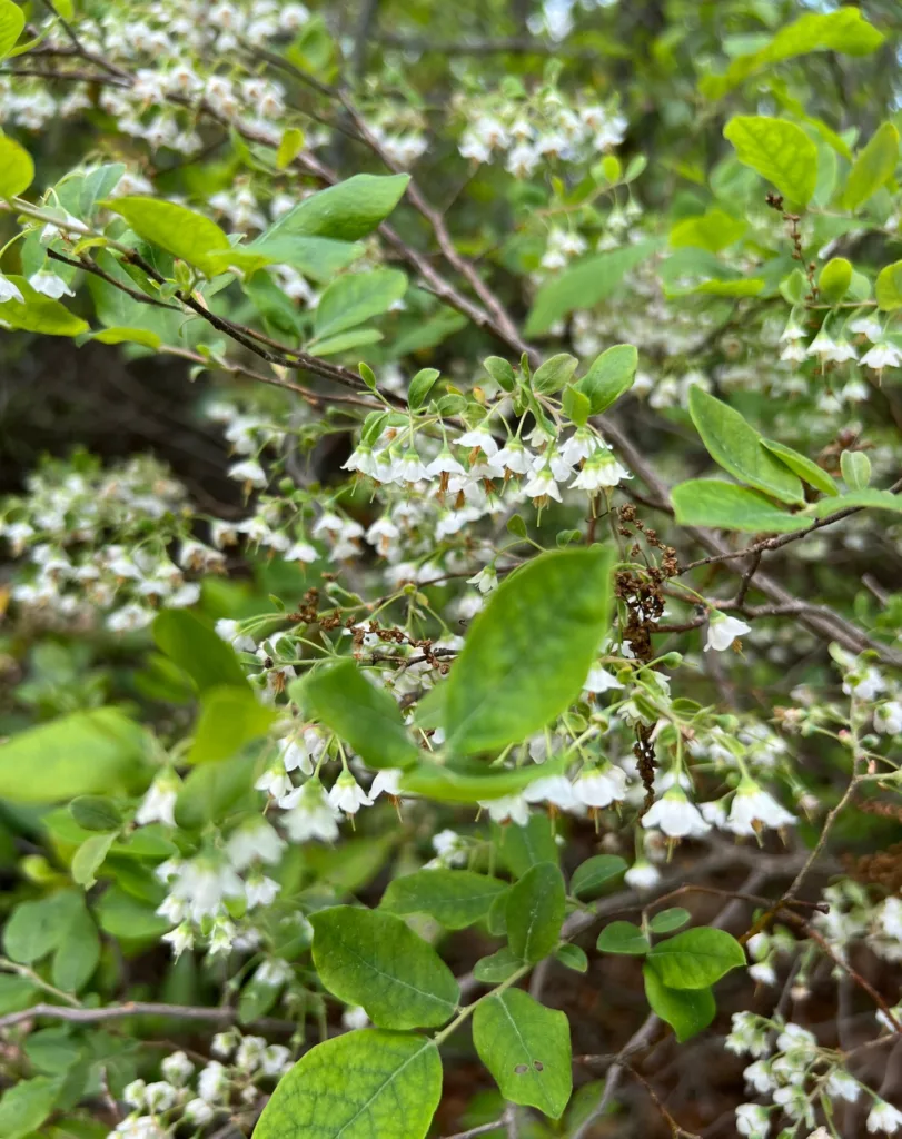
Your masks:
M140 775L145 737L116 708L73 712L0 745L0 797L58 803L129 789Z

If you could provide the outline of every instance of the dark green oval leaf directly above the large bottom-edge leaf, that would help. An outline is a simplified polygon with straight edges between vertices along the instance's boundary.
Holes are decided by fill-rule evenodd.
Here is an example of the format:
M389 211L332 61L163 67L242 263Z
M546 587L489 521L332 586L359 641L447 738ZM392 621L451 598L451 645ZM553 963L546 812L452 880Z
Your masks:
M311 915L313 961L329 992L380 1029L444 1024L460 997L432 945L391 913L336 906Z

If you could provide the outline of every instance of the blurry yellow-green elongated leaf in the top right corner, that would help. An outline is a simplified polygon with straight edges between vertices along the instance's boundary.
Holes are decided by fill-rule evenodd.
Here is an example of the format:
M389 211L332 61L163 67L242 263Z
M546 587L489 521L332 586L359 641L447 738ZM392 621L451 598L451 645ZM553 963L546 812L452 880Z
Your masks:
M866 56L876 51L883 41L883 34L858 8L845 7L823 15L812 13L780 28L765 47L738 56L724 75L706 75L699 88L707 98L720 99L744 80L784 59L809 51Z

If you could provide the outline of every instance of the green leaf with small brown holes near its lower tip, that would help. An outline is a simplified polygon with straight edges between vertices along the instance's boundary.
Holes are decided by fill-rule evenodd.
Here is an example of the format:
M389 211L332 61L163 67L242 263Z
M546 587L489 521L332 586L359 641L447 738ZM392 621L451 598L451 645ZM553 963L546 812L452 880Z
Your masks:
M560 1117L573 1090L565 1013L506 989L476 1006L473 1043L505 1099Z

